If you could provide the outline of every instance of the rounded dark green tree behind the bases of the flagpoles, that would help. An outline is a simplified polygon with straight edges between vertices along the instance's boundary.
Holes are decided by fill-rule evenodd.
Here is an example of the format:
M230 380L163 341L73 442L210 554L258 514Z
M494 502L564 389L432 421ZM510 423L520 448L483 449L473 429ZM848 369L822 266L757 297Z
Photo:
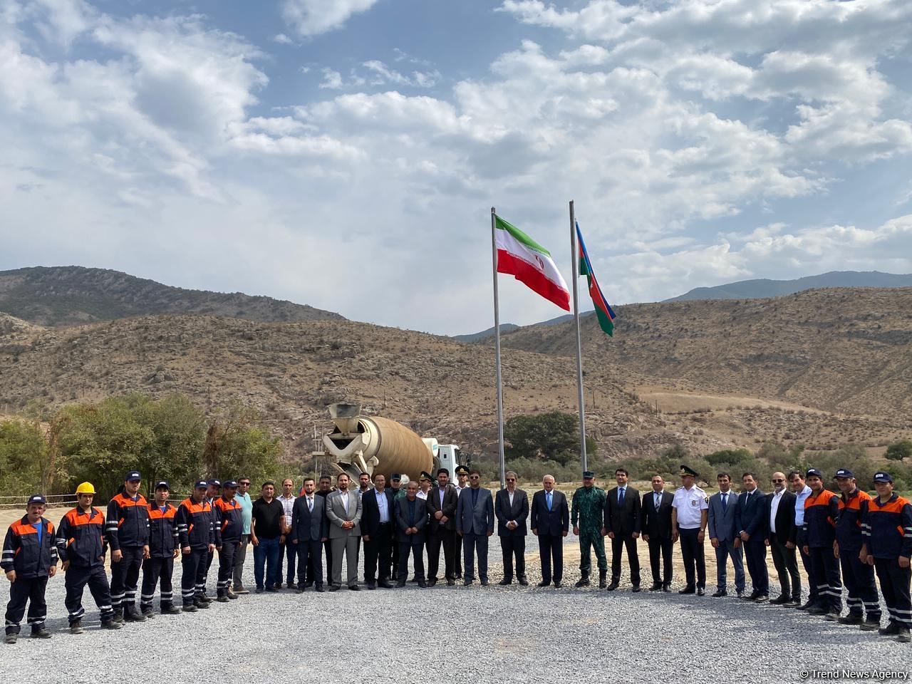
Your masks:
M503 426L507 459L557 461L565 465L579 458L579 420L573 413L550 411L513 416ZM596 440L586 437L586 455L594 456Z

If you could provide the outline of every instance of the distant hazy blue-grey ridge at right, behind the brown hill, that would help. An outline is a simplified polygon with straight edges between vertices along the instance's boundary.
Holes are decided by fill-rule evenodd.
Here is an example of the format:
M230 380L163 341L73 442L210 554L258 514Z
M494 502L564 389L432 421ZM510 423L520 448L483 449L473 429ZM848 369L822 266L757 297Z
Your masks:
M693 299L758 299L794 295L820 287L912 287L912 275L896 275L879 271L830 271L807 275L794 280L742 280L738 283L695 287L683 295L667 299L680 302Z

